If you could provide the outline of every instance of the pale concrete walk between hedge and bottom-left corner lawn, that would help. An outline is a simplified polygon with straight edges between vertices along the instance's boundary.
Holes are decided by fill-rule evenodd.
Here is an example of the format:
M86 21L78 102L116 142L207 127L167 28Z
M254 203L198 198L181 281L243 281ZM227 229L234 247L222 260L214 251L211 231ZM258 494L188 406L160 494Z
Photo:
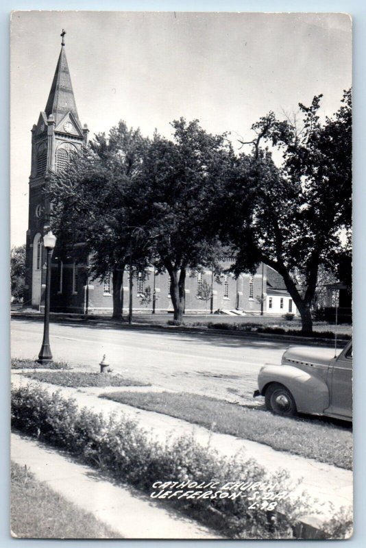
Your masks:
M36 479L93 514L121 538L223 538L136 489L106 481L95 470L36 440L12 433L11 444L13 462L26 464Z

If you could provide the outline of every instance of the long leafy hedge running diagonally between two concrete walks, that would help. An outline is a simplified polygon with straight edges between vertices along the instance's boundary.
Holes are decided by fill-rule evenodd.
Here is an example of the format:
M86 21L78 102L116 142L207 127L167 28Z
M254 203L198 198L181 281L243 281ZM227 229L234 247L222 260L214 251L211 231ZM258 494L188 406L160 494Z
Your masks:
M160 480L220 485L269 482L281 490L293 490L284 471L269 475L254 460L220 456L215 449L199 445L193 436L161 445L136 421L125 416L106 419L86 408L79 410L75 400L29 385L14 390L12 425L147 493ZM290 538L298 517L314 512L304 494L280 501L276 508L280 514L260 506L251 510L244 497L165 500L232 538Z

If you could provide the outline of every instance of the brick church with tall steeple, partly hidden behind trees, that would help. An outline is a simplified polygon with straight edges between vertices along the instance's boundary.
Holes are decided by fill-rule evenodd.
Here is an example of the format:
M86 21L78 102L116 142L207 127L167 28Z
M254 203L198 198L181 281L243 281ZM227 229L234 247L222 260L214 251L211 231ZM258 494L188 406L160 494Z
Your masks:
M46 253L42 236L49 227L50 205L44 190L52 173L60 171L69 155L88 145L88 127L80 123L77 114L69 66L64 47L64 31L56 72L44 112L32 128L32 167L29 177L29 222L26 242L25 306L40 309L44 305L46 282ZM56 234L57 236L57 234ZM231 259L225 263L230 267ZM57 245L51 264L51 310L87 314L112 311L112 277L90 282L88 257L77 260L60 255ZM272 271L273 273L273 271ZM241 310L259 314L261 301L267 314L295 313L295 306L284 287L270 283L271 269L261 264L254 275L241 274L235 279L231 273L216 282L210 271L195 273L186 278L186 313ZM268 280L267 280L268 277ZM124 276L124 302L129 301L128 273ZM204 284L206 282L206 284ZM147 269L134 280L132 303L134 310L173 312L169 295L169 275L155 275ZM212 288L206 299L203 288Z

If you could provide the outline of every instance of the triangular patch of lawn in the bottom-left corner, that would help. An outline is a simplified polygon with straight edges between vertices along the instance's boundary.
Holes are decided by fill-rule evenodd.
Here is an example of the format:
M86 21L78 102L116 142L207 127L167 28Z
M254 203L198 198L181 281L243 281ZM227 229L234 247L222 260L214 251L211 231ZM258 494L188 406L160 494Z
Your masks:
M11 527L20 538L121 538L14 462Z

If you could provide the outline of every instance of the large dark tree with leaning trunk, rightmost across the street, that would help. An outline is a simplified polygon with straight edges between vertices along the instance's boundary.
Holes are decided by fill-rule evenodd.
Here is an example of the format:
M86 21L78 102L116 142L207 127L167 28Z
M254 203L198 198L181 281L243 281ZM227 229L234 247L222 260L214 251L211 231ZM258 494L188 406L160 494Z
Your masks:
M352 222L351 91L324 123L320 100L321 95L314 97L309 107L300 103L302 127L278 121L273 112L254 124L253 153L241 154L236 177L219 196L223 232L238 253L235 271L254 271L263 261L280 273L306 332L313 329L310 308L319 264L334 270L342 234L350 235ZM280 169L261 147L263 141L282 151Z

